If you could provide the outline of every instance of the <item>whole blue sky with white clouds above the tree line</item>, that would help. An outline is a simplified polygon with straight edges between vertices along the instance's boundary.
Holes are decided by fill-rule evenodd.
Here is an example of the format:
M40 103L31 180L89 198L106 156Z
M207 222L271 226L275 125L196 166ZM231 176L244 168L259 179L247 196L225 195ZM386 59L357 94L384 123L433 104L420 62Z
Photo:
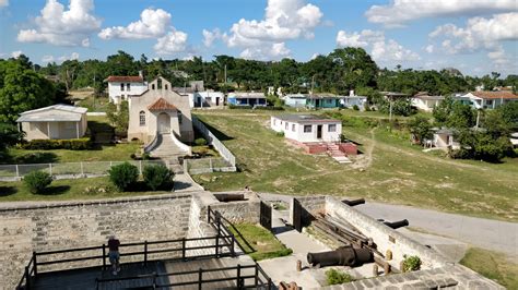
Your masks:
M362 47L381 68L518 74L518 0L0 0L0 58L308 61Z

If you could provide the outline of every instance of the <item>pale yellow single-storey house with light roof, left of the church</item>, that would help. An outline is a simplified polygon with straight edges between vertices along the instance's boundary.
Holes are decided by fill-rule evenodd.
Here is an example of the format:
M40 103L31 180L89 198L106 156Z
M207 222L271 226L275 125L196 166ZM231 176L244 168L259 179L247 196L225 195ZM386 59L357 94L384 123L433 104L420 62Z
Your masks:
M16 120L25 140L80 138L86 133L86 108L54 105L25 111Z

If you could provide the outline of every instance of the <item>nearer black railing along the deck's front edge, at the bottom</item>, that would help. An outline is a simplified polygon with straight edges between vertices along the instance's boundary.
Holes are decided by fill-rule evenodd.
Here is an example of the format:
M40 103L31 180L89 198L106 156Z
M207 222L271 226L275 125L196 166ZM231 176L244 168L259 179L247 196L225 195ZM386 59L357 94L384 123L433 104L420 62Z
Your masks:
M245 269L254 269L254 274L250 275L244 275L243 270ZM228 273L235 270L235 275L228 275L231 277L223 277L223 278L208 278L203 276L203 274L208 273ZM172 276L187 276L191 275L193 276L192 279L189 281L183 281L183 282L166 282L166 283L161 283L158 280L161 278L167 278ZM237 266L234 267L224 267L224 268L210 268L210 269L203 269L199 268L197 270L187 270L187 271L176 271L176 273L165 273L165 274L150 274L150 275L141 275L141 276L134 276L134 277L123 277L123 278L109 278L109 279L96 279L96 289L99 289L101 285L103 283L110 283L110 282L121 282L125 280L144 280L144 279L151 279L151 282L148 285L142 286L143 283L140 282L139 285L141 287L150 287L153 289L156 288L173 288L173 287L180 287L180 286L198 286L198 289L202 289L204 285L207 283L214 283L214 282L223 282L223 281L235 281L236 282L236 288L237 289L247 289L247 288L256 288L256 289L272 289L273 283L270 277L264 273L264 270L259 266L259 264L254 264L254 265L240 265L237 264ZM247 280L254 279L254 282L246 282ZM186 279L183 279L186 280Z

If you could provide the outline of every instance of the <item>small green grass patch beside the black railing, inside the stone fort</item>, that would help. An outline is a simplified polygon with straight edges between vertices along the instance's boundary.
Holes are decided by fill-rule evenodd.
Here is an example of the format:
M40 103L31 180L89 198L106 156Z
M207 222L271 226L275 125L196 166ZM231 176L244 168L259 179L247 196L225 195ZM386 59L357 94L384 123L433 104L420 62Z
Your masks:
M236 237L244 251L250 255L254 261L287 256L292 250L281 243L270 231L258 225L236 223L234 225L250 246L243 240L232 227L231 231Z

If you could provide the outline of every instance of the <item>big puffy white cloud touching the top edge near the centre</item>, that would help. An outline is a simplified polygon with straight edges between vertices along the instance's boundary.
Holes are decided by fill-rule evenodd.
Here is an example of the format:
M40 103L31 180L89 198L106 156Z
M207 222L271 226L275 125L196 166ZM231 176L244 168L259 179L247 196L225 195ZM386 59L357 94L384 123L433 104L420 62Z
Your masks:
M221 36L209 32L204 43L221 38L228 47L242 48L243 57L281 59L290 53L286 40L311 39L322 16L320 9L306 0L268 0L262 20L240 19Z

